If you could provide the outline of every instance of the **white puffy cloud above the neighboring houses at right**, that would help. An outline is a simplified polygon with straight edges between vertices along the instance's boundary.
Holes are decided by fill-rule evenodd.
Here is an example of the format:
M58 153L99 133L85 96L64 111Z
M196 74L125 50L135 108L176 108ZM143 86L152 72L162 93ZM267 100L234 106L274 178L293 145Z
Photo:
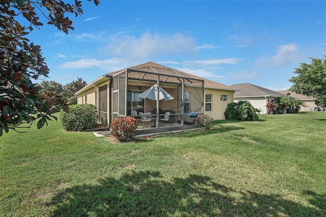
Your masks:
M278 48L278 53L273 57L263 56L255 66L283 67L300 58L296 44L286 44Z

